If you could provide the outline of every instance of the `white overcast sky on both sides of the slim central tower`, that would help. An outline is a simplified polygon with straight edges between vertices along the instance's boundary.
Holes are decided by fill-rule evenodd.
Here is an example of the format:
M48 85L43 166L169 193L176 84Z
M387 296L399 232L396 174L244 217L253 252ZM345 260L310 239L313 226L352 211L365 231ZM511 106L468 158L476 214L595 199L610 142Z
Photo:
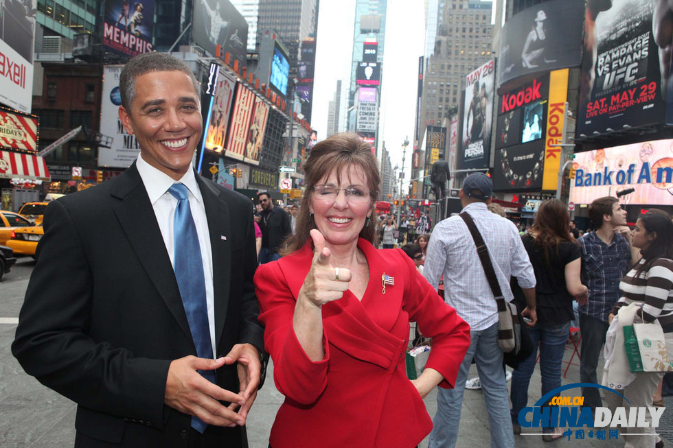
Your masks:
M413 150L418 57L422 56L425 45L423 4L421 0L388 0L387 5L379 138L391 152L394 167L402 165L402 142L408 136L404 162L407 178ZM349 86L354 19L355 0L320 2L310 121L319 139L326 135L328 102L334 97L336 80L342 80L342 90Z

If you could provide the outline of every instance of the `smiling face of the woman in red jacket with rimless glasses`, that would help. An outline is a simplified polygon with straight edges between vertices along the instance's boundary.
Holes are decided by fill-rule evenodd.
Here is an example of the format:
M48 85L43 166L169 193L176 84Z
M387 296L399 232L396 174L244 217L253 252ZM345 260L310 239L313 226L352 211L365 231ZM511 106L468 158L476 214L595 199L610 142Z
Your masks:
M368 192L365 172L356 165L348 165L337 179L336 172L322 178L317 185L334 185L343 189L356 187ZM367 193L365 197L349 196L339 190L336 198L321 198L316 191L311 194L310 213L316 228L323 234L328 245L339 246L352 244L365 226L367 217L372 215L372 198Z

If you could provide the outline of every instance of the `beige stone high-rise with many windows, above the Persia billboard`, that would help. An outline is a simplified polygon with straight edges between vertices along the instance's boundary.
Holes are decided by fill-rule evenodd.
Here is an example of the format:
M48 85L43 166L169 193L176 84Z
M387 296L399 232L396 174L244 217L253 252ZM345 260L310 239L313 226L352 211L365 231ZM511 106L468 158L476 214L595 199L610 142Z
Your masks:
M458 107L465 76L492 59L492 2L446 0L442 27L435 38L433 56L426 59L420 126L444 126L448 112Z

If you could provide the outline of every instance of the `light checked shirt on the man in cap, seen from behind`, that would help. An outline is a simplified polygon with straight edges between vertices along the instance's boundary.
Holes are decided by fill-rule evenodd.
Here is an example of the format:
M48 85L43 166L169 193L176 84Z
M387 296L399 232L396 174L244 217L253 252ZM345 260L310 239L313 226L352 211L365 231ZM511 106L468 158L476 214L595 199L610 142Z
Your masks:
M514 223L488 211L484 202L468 204L463 211L470 214L488 247L505 300L514 298L510 276L516 276L522 288L535 287L533 266ZM437 224L430 237L423 275L437 288L442 274L444 300L472 330L487 329L498 322L498 307L477 255L475 240L459 216Z

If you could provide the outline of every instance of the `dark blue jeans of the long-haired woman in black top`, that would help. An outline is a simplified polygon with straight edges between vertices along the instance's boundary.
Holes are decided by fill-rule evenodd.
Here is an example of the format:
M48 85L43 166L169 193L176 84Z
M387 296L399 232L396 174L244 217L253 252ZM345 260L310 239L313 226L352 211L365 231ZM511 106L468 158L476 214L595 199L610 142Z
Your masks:
M542 376L540 397L561 386L561 362L563 361L565 343L570 334L570 323L562 325L536 324L529 329L529 333L533 341L533 353L512 372L512 410L510 412L514 423L518 422L518 412L525 408L528 403L528 385L533 370L535 370L538 342L540 343L540 375Z

